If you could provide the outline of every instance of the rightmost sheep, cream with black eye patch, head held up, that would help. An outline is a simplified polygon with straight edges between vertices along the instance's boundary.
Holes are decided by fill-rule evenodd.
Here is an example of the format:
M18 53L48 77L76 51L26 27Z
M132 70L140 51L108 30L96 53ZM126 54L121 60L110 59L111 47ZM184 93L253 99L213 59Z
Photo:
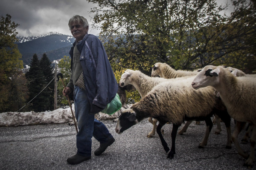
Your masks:
M212 86L219 92L227 111L236 120L236 127L232 134L238 153L245 159L244 166L251 167L254 161L254 147L256 142L256 78L235 77L230 71L220 66L207 65L198 73L192 82L192 87L200 88ZM239 146L238 135L248 122L253 126L250 138L250 156Z

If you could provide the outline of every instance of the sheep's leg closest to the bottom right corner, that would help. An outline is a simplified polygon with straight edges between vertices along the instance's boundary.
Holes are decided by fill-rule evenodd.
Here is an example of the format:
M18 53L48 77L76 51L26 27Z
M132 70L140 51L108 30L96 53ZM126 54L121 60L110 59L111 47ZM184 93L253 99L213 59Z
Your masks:
M245 161L244 166L251 168L253 166L253 161L254 161L254 148L255 148L255 142L256 142L256 126L251 125L253 129L252 137L250 139L250 156L249 158Z

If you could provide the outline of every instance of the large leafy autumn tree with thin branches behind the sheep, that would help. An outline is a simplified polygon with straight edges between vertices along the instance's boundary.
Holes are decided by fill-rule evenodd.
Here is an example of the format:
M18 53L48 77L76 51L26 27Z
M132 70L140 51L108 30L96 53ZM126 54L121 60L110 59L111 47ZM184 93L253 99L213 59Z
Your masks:
M113 67L149 74L155 62L176 69L205 65L237 66L255 61L255 5L232 0L235 11L215 0L89 0L102 28L102 40ZM239 64L238 64L239 63ZM243 67L241 66L243 65ZM249 67L249 66L248 66ZM250 68L250 72L256 68Z

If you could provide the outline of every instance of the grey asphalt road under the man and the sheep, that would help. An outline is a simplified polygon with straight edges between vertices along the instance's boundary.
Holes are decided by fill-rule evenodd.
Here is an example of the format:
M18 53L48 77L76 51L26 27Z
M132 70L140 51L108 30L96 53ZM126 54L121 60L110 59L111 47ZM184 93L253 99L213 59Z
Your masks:
M167 159L156 134L147 138L152 125L144 119L124 133L115 133L116 123L102 121L116 141L102 153L78 165L67 164L76 153L76 130L68 124L0 127L0 170L246 170L244 159L232 149L225 149L226 128L221 123L220 135L213 126L208 144L198 149L204 136L205 124L193 122L186 133L177 135L174 159ZM232 129L234 127L232 121ZM180 127L181 128L181 127ZM163 127L164 138L171 146L172 125ZM241 132L239 140L244 135ZM241 144L249 153L250 145ZM93 138L92 153L99 147ZM253 169L256 168L254 163Z

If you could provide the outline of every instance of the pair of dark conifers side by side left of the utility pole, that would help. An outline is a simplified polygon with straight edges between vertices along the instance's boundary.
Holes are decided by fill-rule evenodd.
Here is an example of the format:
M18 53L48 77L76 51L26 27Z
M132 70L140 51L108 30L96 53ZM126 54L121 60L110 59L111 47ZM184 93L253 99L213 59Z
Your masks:
M33 55L26 72L29 89L28 111L48 111L54 109L54 73L51 62L46 54L38 60Z

